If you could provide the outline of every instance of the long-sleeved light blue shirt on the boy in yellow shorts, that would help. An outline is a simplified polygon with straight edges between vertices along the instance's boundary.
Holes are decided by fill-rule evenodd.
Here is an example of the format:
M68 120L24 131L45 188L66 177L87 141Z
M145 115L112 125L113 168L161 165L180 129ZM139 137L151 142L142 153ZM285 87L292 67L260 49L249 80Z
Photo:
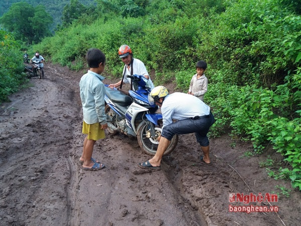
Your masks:
M83 116L86 124L106 124L104 112L105 88L103 76L88 70L79 82L80 98L83 106Z

